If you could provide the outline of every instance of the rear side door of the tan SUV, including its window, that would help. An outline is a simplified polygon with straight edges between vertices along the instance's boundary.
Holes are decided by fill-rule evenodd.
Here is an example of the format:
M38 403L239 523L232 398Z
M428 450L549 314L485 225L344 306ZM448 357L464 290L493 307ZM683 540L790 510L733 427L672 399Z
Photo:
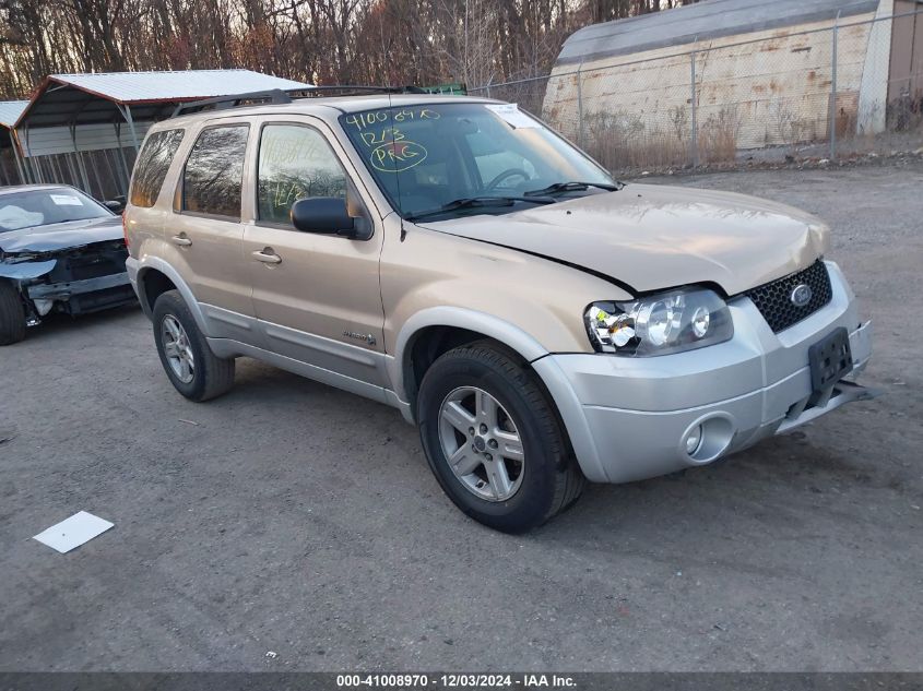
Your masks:
M245 120L206 123L179 177L164 239L170 263L192 290L209 335L258 341L244 261L242 179L251 127Z

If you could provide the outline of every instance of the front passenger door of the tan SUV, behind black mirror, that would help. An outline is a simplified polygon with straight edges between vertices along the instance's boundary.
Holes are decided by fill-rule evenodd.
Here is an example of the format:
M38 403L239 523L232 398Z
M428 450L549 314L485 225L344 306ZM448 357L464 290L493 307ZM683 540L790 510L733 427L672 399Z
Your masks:
M265 343L317 368L321 381L353 390L347 380L386 386L381 228L369 240L352 240L301 233L289 219L296 200L346 199L346 171L334 148L307 120L267 122L253 178L255 218L244 233L244 258ZM355 195L353 189L351 211L362 206Z

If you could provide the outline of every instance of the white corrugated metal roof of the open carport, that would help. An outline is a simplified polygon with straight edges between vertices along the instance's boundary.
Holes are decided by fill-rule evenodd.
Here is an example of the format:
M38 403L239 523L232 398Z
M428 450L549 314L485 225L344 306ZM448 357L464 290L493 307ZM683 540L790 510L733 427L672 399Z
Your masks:
M188 70L185 72L98 72L51 74L49 79L121 104L186 100L271 88L307 88L294 82L251 70Z

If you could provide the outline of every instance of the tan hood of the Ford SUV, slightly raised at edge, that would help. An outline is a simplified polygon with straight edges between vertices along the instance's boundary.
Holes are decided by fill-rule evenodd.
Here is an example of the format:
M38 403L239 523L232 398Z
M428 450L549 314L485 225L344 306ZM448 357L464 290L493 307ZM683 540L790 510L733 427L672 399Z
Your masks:
M829 243L821 221L791 206L653 184L421 225L575 264L634 293L713 283L736 295L807 267Z

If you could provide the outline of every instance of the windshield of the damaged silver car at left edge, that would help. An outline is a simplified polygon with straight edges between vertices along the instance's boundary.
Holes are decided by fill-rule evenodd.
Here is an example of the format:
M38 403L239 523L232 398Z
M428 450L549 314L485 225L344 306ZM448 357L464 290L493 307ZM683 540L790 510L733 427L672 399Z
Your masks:
M108 209L69 187L0 194L0 233L111 215Z

